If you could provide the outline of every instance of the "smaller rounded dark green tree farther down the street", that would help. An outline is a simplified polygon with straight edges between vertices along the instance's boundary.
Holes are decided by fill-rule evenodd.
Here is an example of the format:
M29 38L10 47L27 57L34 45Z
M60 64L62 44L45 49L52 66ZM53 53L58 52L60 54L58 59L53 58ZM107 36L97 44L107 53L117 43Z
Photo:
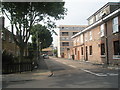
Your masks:
M45 26L40 24L35 25L32 28L31 34L33 44L39 43L41 45L41 49L47 48L52 44L52 34Z

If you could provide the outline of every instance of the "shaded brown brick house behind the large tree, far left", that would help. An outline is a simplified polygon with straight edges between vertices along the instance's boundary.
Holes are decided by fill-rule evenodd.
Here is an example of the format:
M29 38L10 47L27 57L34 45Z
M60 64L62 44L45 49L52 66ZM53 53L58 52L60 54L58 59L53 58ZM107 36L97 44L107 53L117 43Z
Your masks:
M1 51L7 51L7 53L12 53L14 56L19 55L19 47L16 45L12 38L12 33L4 27L4 17L0 17L0 28L1 28ZM24 51L24 56L28 55L28 49Z

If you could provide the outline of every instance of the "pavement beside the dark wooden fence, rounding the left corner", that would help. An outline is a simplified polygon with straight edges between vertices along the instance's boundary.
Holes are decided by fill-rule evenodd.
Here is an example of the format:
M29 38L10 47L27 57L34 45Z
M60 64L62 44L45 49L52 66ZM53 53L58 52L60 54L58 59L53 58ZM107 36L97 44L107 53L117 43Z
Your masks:
M38 80L40 78L44 78L49 76L51 71L48 69L47 64L45 63L44 59L40 59L38 61L38 68L34 69L33 71L26 71L21 73L14 73L14 74L3 74L2 82L17 82L17 81L30 81L30 80Z

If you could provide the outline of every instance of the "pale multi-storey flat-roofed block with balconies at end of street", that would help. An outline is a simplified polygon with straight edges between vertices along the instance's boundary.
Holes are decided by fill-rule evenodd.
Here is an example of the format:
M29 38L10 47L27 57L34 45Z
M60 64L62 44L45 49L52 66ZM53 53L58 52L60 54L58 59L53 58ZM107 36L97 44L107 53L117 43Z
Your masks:
M83 30L86 25L60 25L58 36L58 57L65 57L64 50L69 50L73 46L71 39L72 35L75 35L79 31ZM71 58L70 54L68 55Z

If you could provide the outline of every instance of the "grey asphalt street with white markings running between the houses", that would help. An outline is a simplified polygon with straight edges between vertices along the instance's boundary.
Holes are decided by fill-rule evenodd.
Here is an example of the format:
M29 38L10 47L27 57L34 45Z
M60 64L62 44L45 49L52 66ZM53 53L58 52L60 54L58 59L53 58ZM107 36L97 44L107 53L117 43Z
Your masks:
M53 72L52 76L6 82L4 88L118 88L118 70L52 57L45 62Z

